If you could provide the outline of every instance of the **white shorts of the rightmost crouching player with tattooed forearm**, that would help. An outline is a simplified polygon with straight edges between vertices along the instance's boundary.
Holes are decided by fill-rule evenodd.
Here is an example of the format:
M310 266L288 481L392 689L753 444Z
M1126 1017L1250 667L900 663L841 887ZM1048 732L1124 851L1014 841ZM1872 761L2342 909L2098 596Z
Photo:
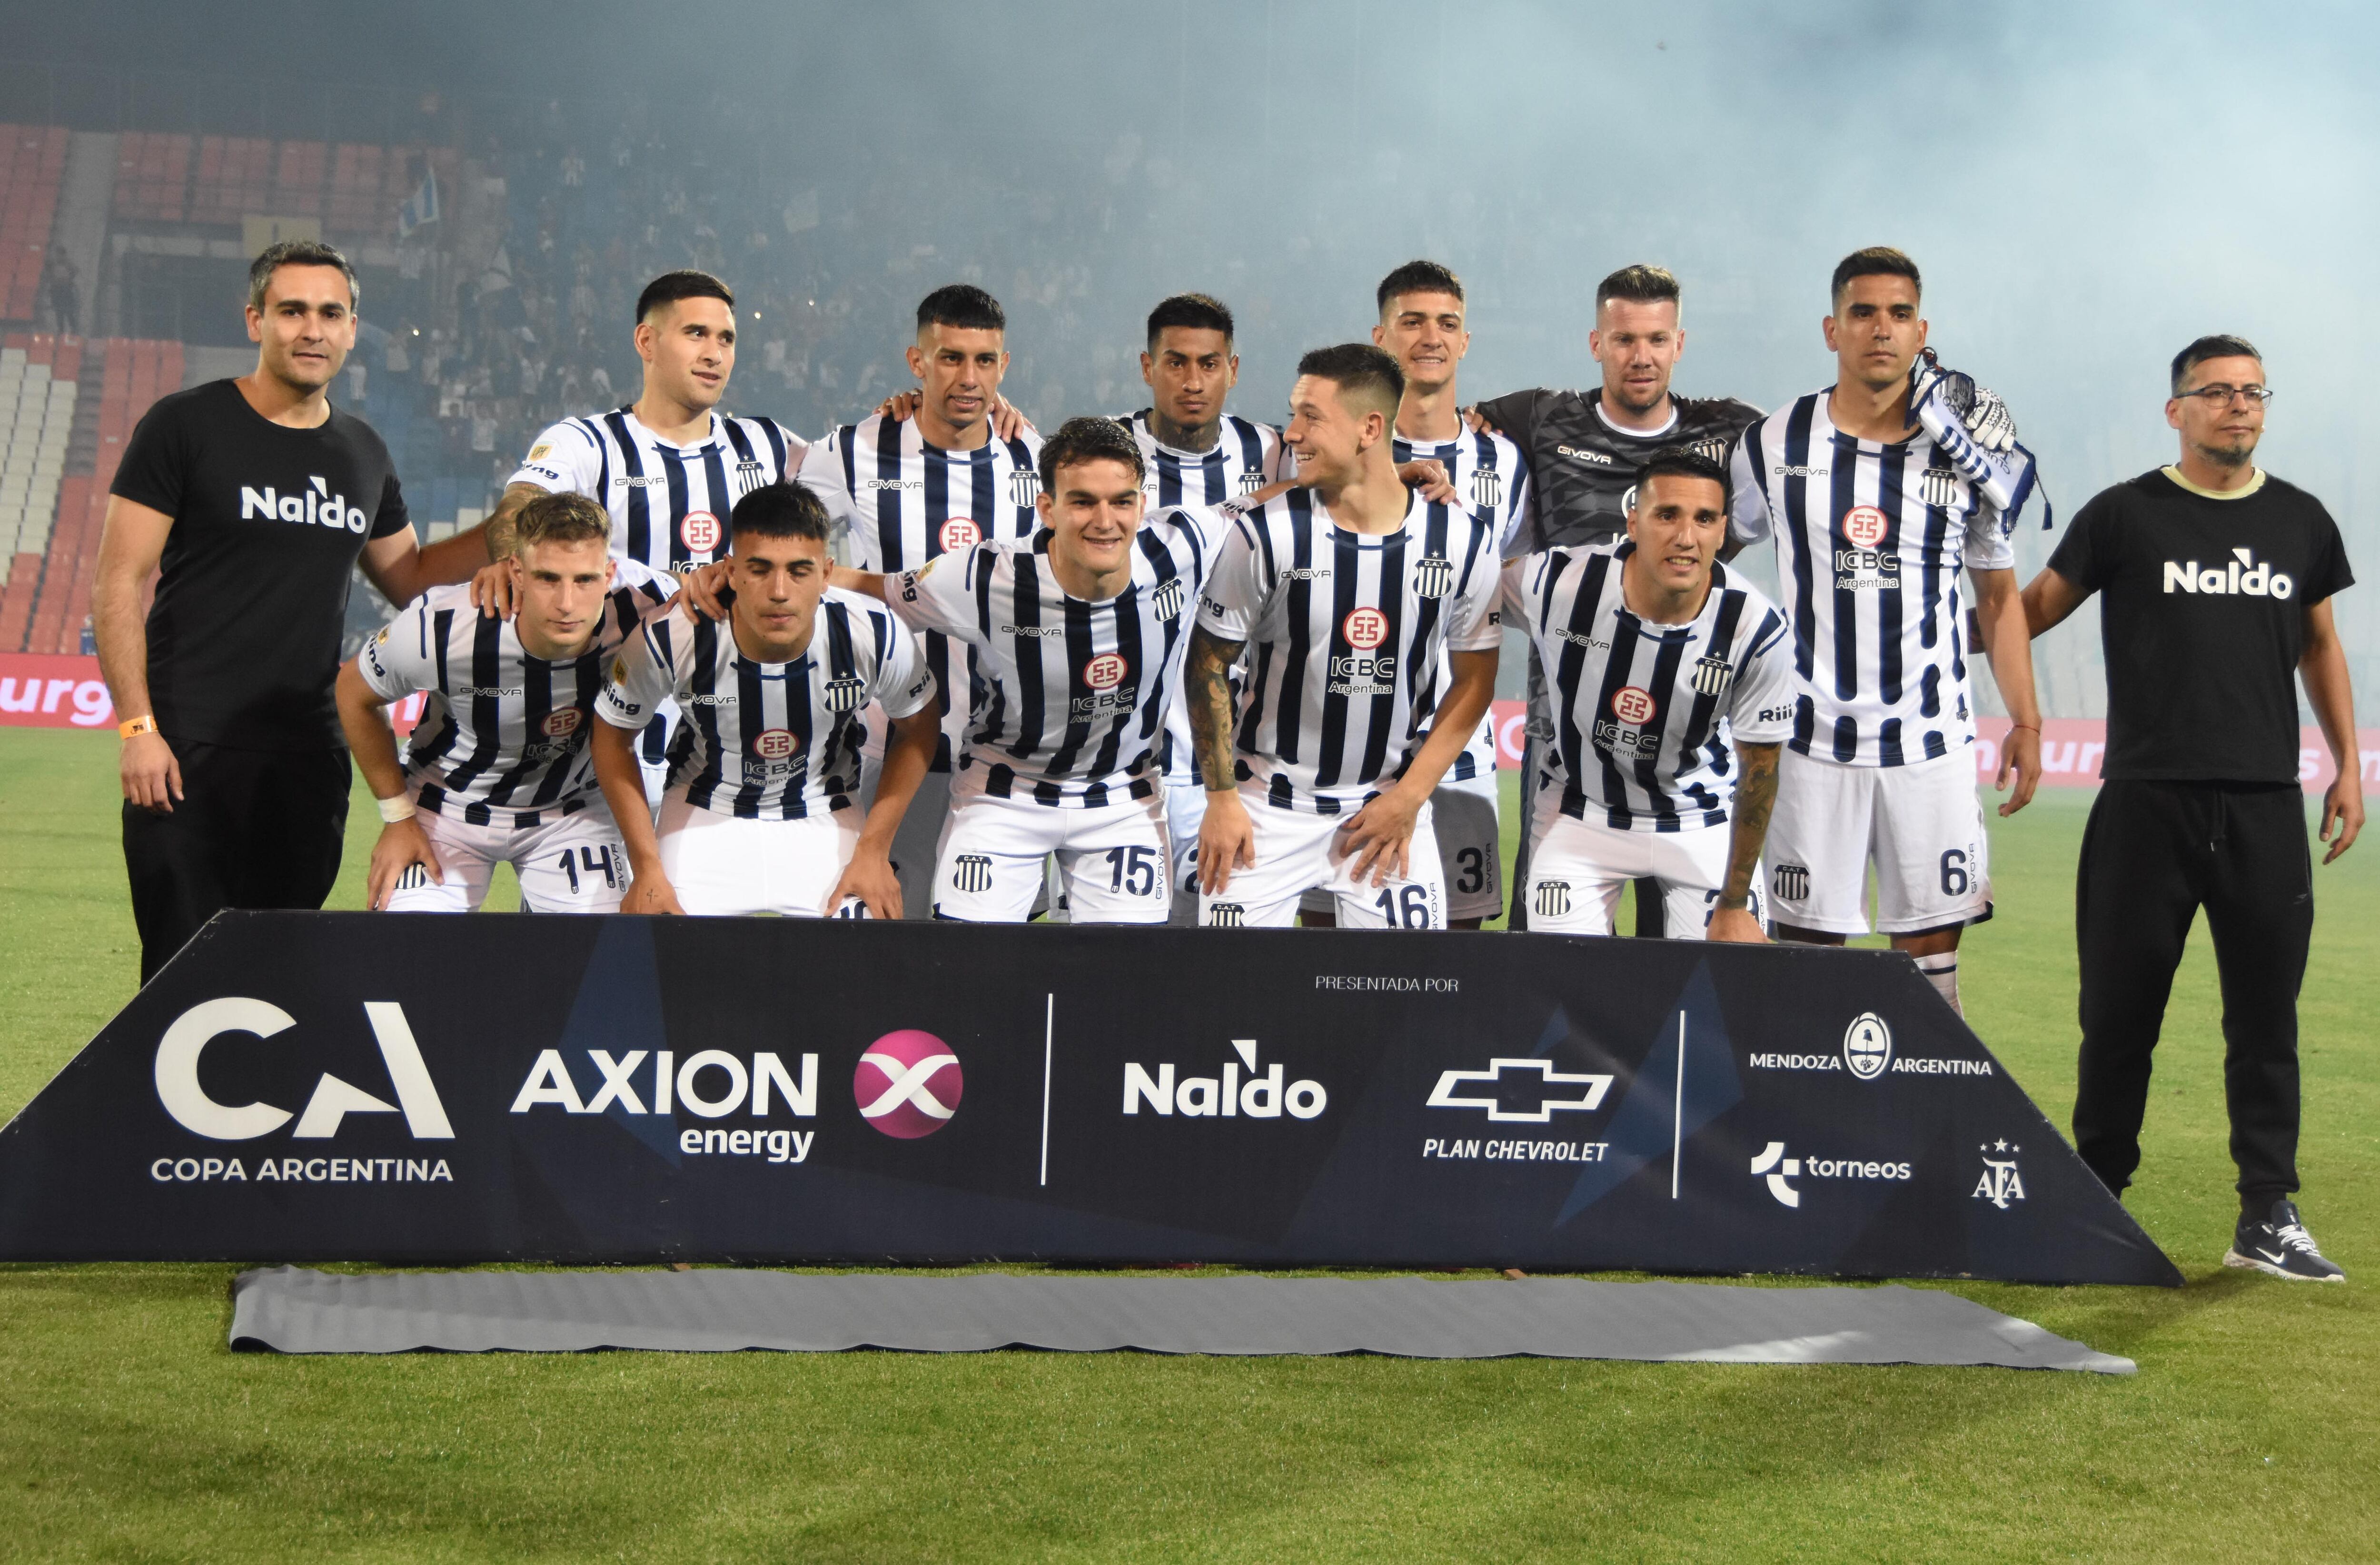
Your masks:
M1609 935L1621 892L1633 880L1661 885L1661 930L1671 939L1702 939L1728 882L1733 825L1683 832L1630 832L1602 821L1561 813L1561 790L1537 794L1530 832L1528 928L1535 935ZM1642 890L1637 892L1642 897ZM1752 916L1759 918L1754 890Z

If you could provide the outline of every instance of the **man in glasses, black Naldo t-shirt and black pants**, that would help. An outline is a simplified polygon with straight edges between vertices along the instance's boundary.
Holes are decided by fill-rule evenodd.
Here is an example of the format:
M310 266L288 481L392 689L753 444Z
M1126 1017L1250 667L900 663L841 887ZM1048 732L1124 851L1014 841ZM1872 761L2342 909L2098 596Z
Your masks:
M2242 338L2199 338L2175 354L2166 423L2180 430L2180 461L2082 507L2025 587L2025 626L2040 635L2099 595L2106 763L2075 878L2075 1151L2113 1192L2140 1168L2149 1054L2204 906L2240 1165L2240 1227L2223 1263L2344 1282L2290 1199L2297 989L2313 935L2290 673L2340 771L2323 797L2330 863L2363 828L2354 692L2330 618L2330 597L2354 573L2323 502L2251 461L2271 397L2263 357Z

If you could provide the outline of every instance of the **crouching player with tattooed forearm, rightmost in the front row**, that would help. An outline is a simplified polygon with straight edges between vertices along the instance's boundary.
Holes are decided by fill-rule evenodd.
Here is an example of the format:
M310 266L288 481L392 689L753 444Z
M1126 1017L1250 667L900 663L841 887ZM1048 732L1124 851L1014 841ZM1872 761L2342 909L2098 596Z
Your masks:
M1764 939L1754 885L1792 733L1792 635L1714 564L1726 538L1728 476L1666 447L1637 471L1623 542L1504 568L1557 735L1528 780L1530 930L1609 935L1621 887L1652 878L1671 935Z

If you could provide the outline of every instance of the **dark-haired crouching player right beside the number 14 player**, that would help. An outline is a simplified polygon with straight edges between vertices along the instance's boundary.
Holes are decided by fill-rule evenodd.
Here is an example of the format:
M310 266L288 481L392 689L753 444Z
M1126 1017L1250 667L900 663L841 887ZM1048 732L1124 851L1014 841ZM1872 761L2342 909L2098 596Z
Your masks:
M826 507L771 483L728 516L724 621L685 599L645 621L595 702L595 775L628 847L624 913L900 918L892 832L933 761L933 675L914 637L826 585ZM676 697L693 733L645 816L635 735ZM892 718L876 804L859 818L862 711Z

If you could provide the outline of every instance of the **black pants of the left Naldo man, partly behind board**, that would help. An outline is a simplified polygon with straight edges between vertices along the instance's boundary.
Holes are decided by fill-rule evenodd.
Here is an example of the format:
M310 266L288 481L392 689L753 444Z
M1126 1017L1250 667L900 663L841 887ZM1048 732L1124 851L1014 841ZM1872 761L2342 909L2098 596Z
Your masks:
M140 982L221 909L319 909L347 840L345 749L167 742L181 763L174 813L124 804Z

